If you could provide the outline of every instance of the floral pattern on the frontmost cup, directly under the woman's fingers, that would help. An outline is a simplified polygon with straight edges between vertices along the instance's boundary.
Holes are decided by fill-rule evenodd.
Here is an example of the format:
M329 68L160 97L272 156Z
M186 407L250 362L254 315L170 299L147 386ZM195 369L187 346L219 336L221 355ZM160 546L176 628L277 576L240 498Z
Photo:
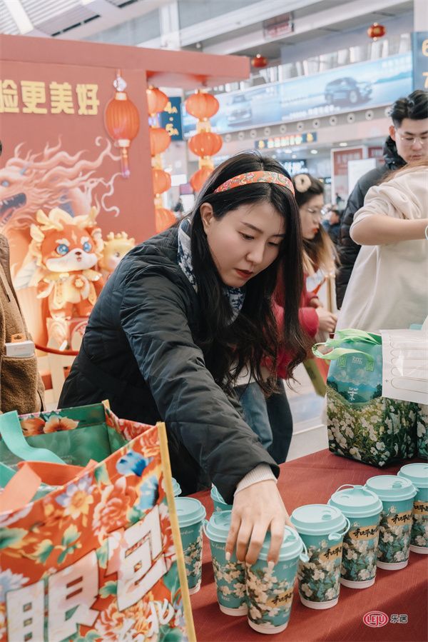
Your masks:
M290 616L294 583L279 580L275 568L245 566L248 617L255 624L274 624L280 613L285 621ZM275 626L275 624L274 624Z

